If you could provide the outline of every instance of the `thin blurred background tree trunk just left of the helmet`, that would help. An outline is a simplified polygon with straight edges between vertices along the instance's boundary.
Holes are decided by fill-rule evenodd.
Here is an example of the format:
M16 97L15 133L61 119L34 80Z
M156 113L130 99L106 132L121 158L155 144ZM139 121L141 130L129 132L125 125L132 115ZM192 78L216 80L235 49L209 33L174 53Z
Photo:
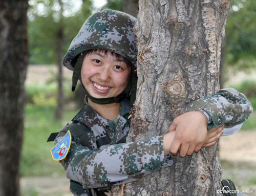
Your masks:
M59 28L57 31L57 66L58 66L58 95L57 95L57 107L55 110L55 119L61 120L63 112L63 86L62 86L62 45L63 45L63 19L62 19L62 2L58 0L61 7Z

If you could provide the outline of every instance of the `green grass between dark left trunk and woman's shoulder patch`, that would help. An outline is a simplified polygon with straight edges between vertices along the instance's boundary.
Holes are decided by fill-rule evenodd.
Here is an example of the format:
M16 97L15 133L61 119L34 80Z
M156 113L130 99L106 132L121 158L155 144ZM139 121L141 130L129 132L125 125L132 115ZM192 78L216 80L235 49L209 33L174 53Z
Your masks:
M49 135L59 130L76 114L65 110L63 122L54 119L54 107L31 105L25 107L25 131L20 172L22 176L60 175L61 165L50 155L53 142L46 142Z

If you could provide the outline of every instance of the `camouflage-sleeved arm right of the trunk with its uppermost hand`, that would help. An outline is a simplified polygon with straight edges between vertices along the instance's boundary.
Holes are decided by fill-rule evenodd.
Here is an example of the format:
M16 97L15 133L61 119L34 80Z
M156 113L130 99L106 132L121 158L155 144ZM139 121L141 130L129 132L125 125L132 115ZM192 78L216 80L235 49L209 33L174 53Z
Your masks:
M176 117L169 127L169 131L176 130L170 153L176 155L180 149L180 156L184 157L200 150L207 139L207 129L224 125L223 135L234 134L251 113L248 99L232 88L190 102L186 113Z

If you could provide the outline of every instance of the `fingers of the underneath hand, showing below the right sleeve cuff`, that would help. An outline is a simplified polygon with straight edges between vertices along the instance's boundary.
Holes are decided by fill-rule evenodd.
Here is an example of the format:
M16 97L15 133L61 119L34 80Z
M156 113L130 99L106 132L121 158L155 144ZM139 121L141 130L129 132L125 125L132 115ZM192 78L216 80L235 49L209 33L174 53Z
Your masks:
M212 127L206 136L206 139L202 145L202 147L209 147L214 145L217 140L221 137L221 134L223 133L224 125L222 125L219 128Z

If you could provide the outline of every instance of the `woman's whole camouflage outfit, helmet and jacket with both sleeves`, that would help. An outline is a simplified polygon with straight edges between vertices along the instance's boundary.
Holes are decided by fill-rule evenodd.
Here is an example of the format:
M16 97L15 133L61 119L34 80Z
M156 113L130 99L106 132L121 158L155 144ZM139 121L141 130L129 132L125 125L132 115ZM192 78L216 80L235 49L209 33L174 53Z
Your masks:
M63 58L65 67L74 70L72 89L80 77L82 58L79 54L83 51L109 50L130 60L135 66L135 24L136 18L114 10L97 12L85 21ZM229 128L224 129L227 135L236 132L252 112L248 100L233 89L192 102L187 111L195 110L207 116L209 128L225 124ZM163 136L125 143L130 130L130 112L130 102L122 99L119 116L110 121L86 104L72 120L82 134L75 133L70 125L60 131L55 144L68 130L72 135L69 153L60 163L71 180L70 189L74 195L102 195L98 188L132 182L173 164L171 155L164 156Z

